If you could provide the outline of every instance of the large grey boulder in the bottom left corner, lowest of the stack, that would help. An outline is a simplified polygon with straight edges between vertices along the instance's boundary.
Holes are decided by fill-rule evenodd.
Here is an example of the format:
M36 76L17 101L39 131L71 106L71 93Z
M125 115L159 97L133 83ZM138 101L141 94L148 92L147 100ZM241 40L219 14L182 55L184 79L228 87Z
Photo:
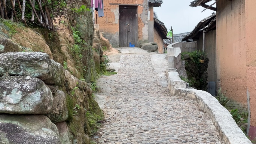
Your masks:
M60 144L58 129L43 115L0 115L0 144Z

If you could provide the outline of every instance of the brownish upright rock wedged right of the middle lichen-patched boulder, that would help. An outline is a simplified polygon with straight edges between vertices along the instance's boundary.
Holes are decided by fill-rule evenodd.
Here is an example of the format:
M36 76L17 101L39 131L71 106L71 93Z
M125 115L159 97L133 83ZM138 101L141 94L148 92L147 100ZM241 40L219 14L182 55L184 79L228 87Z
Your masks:
M67 100L65 92L58 90L54 94L53 106L51 112L46 116L53 123L63 122L68 118Z

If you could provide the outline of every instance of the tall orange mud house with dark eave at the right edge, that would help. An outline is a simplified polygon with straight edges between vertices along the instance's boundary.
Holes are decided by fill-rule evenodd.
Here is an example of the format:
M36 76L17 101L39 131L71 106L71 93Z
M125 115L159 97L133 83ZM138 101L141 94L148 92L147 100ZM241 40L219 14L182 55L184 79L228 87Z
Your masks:
M209 7L195 0L192 7ZM218 85L233 102L247 110L247 133L256 138L256 0L216 0L216 68ZM246 111L244 111L246 112Z

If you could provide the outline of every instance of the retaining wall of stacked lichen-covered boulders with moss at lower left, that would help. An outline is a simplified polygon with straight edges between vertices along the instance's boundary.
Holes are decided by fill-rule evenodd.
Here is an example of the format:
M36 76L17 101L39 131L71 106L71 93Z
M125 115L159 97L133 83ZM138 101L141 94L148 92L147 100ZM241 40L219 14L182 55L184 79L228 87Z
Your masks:
M89 143L84 115L88 102L94 100L86 82L46 53L8 52L1 53L0 59L2 143ZM79 120L77 127L69 128L73 120Z

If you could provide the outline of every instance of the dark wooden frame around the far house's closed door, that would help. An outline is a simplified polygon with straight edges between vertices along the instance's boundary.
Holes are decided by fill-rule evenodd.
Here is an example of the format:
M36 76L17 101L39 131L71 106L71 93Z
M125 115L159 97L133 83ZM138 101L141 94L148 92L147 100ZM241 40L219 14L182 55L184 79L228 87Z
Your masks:
M136 29L137 30L137 34L136 34L136 39L135 39L135 43L133 45L135 45L135 47L138 47L138 6L131 6L131 5L119 5L119 47L121 47L121 33L120 33L120 25L121 25L121 22L120 22L120 9L135 9L136 11L136 14L137 14L137 18L135 18L135 24L136 24Z

